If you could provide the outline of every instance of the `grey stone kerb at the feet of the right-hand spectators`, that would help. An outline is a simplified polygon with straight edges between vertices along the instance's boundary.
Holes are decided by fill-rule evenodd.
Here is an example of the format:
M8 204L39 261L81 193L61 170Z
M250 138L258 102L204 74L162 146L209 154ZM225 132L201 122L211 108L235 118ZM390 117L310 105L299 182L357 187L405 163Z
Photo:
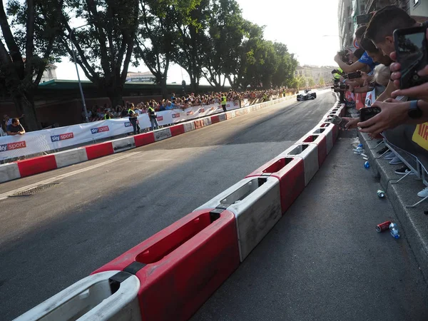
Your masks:
M358 137L365 147L372 174L380 180L380 185L387 193L387 198L389 198L392 208L397 214L399 228L404 231L402 234L407 238L410 248L412 248L419 264L419 269L425 279L428 279L428 226L427 215L424 215L424 210L427 209L427 206L426 203L425 206L422 203L417 208L406 207L406 205L412 205L421 200L421 198L417 197L417 193L422 190L423 184L421 181L415 180L414 176L408 176L401 182L392 184L394 180L402 178L401 175L394 173L394 170L402 165L392 166L389 165L389 161L383 158L376 159L380 156L377 151L384 148L384 144L371 150L370 148L376 146L377 140L372 141L367 134L360 132L358 132Z

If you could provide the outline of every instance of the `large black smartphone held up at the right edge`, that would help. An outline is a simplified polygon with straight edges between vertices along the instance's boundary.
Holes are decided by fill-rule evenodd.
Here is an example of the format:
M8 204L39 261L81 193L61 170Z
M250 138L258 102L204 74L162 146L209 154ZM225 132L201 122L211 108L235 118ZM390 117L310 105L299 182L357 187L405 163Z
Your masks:
M394 46L397 62L401 64L400 88L410 88L428 82L428 77L417 73L427 66L427 26L397 29L394 31Z

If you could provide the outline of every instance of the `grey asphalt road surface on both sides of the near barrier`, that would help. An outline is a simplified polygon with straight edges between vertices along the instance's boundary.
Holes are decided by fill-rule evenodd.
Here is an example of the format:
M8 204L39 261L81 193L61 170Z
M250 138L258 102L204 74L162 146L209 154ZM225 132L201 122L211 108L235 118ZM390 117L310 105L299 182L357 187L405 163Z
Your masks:
M0 319L29 310L190 213L285 151L334 102L330 92L315 101L289 101L1 184L0 195L43 180L59 183L32 196L0 200ZM335 320L325 317L340 312L370 320L367 311L390 316L412 302L412 320L421 320L426 284L405 238L394 243L389 235L373 233L373 224L392 216L392 208L376 205L379 200L367 192L367 184L376 183L357 179L340 148L195 320Z

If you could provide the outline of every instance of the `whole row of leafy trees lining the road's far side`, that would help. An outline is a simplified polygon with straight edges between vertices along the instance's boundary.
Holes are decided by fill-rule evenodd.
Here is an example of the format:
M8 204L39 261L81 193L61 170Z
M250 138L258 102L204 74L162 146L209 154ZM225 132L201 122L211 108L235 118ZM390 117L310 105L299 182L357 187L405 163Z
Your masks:
M6 14L7 13L7 14ZM66 56L110 98L123 103L131 65L144 64L167 95L171 63L190 86L201 78L218 91L301 87L297 60L264 26L243 18L235 0L9 0L0 5L0 88L39 128L34 92L49 63Z

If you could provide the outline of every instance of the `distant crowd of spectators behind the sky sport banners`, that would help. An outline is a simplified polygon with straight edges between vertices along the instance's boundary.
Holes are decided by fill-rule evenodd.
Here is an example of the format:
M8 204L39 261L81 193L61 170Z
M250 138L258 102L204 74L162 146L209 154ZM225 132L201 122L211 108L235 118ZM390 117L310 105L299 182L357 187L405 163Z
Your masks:
M276 88L265 91L233 91L230 89L227 93L205 93L195 94L190 93L184 96L175 96L175 93L171 94L168 99L156 101L151 99L147 102L137 103L134 111L138 114L148 113L150 107L153 107L156 112L168 111L172 109L185 109L193 106L208 106L213 104L221 103L222 96L225 95L227 101L237 101L243 99L263 99L264 97L282 97L295 93L295 89L288 88ZM126 118L128 117L129 103L125 103L125 106L118 105L115 108L104 105L103 107L94 105L91 109L88 109L88 119L90 122L102 121L111 118ZM85 121L85 113L82 111L82 121Z

